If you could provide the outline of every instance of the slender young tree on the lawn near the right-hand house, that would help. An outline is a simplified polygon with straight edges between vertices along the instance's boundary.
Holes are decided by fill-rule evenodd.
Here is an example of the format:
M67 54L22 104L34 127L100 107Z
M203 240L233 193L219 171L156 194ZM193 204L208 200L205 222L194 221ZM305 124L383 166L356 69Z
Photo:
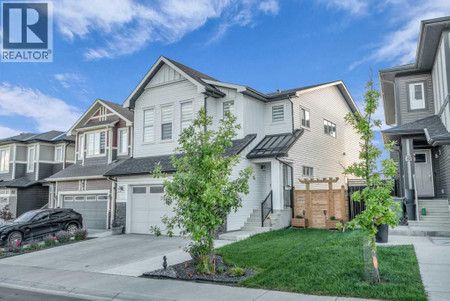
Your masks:
M345 174L352 174L358 178L365 179L367 187L362 191L352 194L352 200L355 202L364 201L366 209L350 223L349 226L358 224L362 229L367 231L369 238L369 246L372 249L372 267L376 281L379 281L377 269L375 235L378 232L378 226L389 224L392 227L397 225L395 212L391 208L395 207L395 203L391 197L391 191L394 188L393 177L396 174L397 163L392 159L381 160L378 166L379 158L382 154L374 143L374 128L381 127L381 121L374 119L374 113L378 108L378 99L380 92L373 86L372 80L366 85L366 93L364 97L364 110L362 114L349 113L345 120L353 126L357 133L361 136L360 143L360 161L354 163L345 170ZM385 145L385 149L389 152L395 142Z

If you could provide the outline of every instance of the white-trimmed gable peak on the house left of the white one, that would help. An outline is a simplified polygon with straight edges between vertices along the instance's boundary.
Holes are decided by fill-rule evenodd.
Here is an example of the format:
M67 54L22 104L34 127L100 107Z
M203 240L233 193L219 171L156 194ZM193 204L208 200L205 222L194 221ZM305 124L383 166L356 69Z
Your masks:
M78 120L72 125L72 127L67 131L67 133L73 135L75 134L75 129L85 127L85 123L89 120L89 118L91 118L95 114L95 112L97 112L97 110L101 106L104 106L105 108L109 109L111 112L113 112L114 114L125 120L127 125L133 124L134 121L133 111L131 111L128 108L124 108L122 105L118 103L97 98L92 103L92 105L86 110L86 112L84 112L83 115L81 115L81 117L78 118ZM106 124L109 124L109 121Z

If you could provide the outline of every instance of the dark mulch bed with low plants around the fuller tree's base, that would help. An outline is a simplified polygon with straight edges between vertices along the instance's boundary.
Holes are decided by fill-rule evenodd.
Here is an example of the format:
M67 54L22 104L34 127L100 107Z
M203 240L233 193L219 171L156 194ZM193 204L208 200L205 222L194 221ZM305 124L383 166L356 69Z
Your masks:
M230 270L233 267L226 265L221 256L216 256L216 268L222 270L222 273L214 275L198 274L195 270L195 261L193 259L183 263L168 266L166 269L159 269L144 273L141 277L152 279L174 279L196 282L208 282L216 284L237 285L238 282L247 277L256 274L253 270L243 269L244 275L231 276Z

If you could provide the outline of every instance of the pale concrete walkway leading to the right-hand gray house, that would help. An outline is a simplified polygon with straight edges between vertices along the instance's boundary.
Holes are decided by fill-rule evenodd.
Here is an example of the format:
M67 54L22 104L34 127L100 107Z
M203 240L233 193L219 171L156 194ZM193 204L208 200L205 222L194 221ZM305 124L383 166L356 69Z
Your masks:
M450 300L450 238L389 235L388 243L378 245L414 245L428 300Z

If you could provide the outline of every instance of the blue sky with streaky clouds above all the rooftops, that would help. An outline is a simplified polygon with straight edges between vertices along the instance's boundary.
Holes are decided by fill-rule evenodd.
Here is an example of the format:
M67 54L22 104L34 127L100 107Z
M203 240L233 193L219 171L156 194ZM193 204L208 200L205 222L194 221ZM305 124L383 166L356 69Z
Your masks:
M262 92L342 79L359 102L370 70L377 83L414 60L420 20L449 14L448 0L58 0L54 62L0 63L0 138L122 103L160 55Z

